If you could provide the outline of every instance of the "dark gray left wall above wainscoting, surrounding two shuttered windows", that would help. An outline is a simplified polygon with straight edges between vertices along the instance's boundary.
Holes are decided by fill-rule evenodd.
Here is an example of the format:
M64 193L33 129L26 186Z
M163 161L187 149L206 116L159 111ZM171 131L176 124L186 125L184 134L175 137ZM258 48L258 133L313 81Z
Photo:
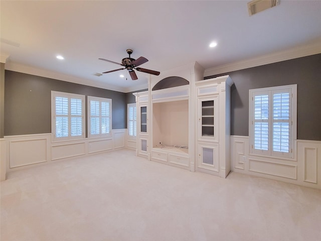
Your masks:
M6 70L5 136L51 133L51 90L111 98L112 129L126 128L125 93Z

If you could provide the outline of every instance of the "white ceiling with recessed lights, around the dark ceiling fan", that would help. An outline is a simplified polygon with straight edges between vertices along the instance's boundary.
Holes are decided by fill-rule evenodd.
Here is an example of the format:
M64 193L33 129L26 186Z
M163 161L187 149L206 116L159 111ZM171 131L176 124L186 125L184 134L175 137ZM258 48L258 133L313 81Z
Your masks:
M128 89L126 70L92 75L144 56L140 67L165 71L197 61L205 69L321 42L321 1L285 1L249 17L248 1L4 1L1 54L25 66L79 83ZM209 48L216 41L218 46ZM65 57L63 61L56 55ZM14 67L11 67L14 69ZM41 72L40 71L40 72Z

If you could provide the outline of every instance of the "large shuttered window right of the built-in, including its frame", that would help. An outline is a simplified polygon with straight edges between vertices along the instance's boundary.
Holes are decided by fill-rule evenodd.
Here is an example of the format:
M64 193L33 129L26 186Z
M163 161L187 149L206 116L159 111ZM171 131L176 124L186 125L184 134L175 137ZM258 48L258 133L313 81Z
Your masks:
M296 84L249 90L250 153L293 158Z

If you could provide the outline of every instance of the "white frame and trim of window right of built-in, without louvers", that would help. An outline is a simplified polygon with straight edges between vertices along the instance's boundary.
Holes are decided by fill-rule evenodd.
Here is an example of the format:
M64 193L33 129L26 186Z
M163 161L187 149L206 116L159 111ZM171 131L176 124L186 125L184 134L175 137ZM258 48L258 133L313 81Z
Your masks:
M273 120L271 118L272 115L272 105L269 104L269 150L268 151L259 151L252 148L254 146L254 128L252 123L254 122L254 101L252 97L254 94L258 94L260 92L268 92L271 93L283 89L291 89L292 98L290 101L290 108L291 108L291 127L290 127L290 138L289 138L289 153L278 153L272 150L272 141L271 141L271 123ZM249 154L253 156L263 156L263 157L272 157L276 159L285 159L285 160L294 160L296 158L296 130L297 130L297 85L282 85L282 86L274 86L274 87L267 87L267 88L258 88L258 89L250 89L249 90L249 141L250 141L250 150Z

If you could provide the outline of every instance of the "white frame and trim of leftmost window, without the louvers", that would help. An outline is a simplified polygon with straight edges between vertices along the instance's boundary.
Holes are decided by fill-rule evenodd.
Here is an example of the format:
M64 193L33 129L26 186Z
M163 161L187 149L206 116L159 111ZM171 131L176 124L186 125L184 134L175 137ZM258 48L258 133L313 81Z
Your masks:
M81 117L82 117L82 135L72 137L70 135L71 128L68 128L68 137L56 137L56 97L67 97L68 99L77 98L82 100L81 105ZM70 106L68 106L68 124L70 126ZM53 142L57 141L69 141L69 140L77 140L77 139L84 139L85 138L85 95L82 94L73 94L73 93L66 93L66 92L59 92L59 91L51 91L51 133L52 133L52 140Z

